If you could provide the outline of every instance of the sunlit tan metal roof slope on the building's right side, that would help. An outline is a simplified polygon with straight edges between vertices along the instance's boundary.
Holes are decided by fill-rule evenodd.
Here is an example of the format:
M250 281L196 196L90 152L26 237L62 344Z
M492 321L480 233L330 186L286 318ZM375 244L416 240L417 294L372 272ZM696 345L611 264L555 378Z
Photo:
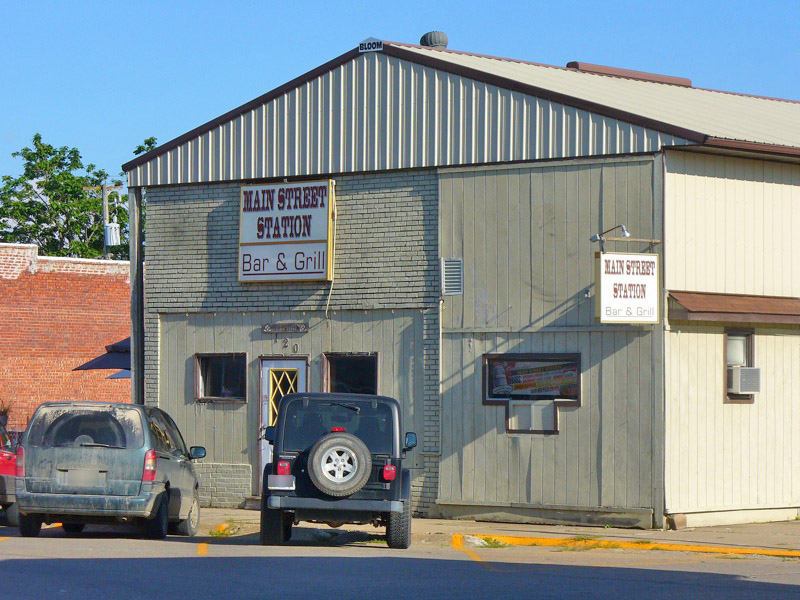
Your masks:
M476 69L713 137L800 146L798 102L597 75L434 48L392 45L421 57Z

